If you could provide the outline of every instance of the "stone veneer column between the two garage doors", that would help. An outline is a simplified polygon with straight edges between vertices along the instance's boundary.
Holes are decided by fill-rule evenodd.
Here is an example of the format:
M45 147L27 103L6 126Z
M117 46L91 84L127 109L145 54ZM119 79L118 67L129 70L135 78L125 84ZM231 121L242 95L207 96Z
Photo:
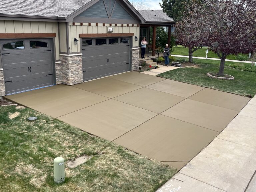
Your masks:
M81 53L72 55L60 54L60 61L63 84L74 85L83 82L83 65Z

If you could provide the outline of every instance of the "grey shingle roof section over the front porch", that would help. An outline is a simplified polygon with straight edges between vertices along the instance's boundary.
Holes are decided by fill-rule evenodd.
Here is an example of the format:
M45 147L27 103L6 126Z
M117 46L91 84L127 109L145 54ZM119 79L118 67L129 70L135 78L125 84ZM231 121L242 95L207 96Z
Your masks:
M168 17L163 10L138 10L146 22L173 22L173 19Z

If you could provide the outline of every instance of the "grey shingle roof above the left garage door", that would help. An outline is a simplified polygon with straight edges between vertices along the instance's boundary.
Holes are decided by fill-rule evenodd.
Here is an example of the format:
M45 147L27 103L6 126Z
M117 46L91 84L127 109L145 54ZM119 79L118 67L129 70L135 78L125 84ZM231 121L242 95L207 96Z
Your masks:
M0 0L0 14L67 17L92 0Z

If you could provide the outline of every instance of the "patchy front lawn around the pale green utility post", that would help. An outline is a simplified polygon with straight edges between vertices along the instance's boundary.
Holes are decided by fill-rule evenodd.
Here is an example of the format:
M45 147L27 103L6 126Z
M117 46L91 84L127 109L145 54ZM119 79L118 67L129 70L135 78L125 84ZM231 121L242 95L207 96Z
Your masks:
M35 121L27 117L37 116ZM11 118L10 118L11 117ZM91 156L53 180L53 160ZM0 107L0 191L156 191L177 170L24 107Z

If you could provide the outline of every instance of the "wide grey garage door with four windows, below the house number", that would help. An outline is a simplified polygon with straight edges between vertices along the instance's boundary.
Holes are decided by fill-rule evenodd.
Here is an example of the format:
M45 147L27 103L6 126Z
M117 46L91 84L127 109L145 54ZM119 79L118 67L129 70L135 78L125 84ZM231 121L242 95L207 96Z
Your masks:
M82 39L83 81L130 70L130 37Z

